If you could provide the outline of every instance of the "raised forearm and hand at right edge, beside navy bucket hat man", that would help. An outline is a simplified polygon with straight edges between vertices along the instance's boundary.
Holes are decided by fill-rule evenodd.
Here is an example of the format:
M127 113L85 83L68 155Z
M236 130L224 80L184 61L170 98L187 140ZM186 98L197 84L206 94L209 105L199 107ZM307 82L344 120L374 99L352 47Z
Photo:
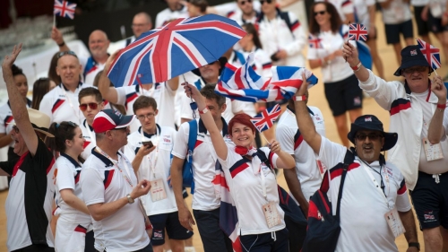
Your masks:
M435 93L435 96L439 99L437 102L437 108L434 111L433 118L429 123L427 129L427 140L429 143L439 143L444 136L444 112L446 107L446 87L444 81L440 75L435 75L431 84L431 91ZM440 108L439 108L440 107Z

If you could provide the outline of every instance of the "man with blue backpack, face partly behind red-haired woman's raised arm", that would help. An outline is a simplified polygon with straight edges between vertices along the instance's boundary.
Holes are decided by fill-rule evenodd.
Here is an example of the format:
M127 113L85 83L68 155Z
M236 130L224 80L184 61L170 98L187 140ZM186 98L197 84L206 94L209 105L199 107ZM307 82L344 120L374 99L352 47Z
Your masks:
M226 110L226 99L215 93L215 85L206 85L201 94L205 97L207 108L211 111L216 125L222 131L224 140L231 143L228 137L226 120L221 117ZM193 213L197 222L199 234L205 252L231 252L232 243L227 235L220 230L220 198L215 195L211 181L215 176L216 154L211 145L211 138L201 119L196 119L197 137L193 150ZM192 214L188 211L182 196L182 166L188 150L190 124L185 123L179 127L176 135L176 145L173 148L173 162L171 165L171 184L176 196L179 221L188 230L193 230Z

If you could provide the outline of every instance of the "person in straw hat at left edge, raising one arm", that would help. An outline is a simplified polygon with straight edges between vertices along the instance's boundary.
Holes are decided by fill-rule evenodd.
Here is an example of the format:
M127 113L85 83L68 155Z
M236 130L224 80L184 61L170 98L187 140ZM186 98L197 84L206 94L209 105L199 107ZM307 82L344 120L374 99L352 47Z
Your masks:
M50 228L54 204L56 166L53 152L44 143L50 118L35 109L27 109L14 82L11 69L22 50L22 44L4 57L4 83L8 91L15 125L11 131L14 153L19 160L0 162L0 175L11 176L6 198L6 227L8 251L55 251Z

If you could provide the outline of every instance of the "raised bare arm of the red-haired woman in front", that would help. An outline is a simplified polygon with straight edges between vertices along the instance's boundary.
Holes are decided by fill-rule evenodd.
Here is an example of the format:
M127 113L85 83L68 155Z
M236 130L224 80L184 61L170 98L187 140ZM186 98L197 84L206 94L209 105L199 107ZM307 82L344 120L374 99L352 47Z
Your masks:
M207 109L204 98L194 84L185 83L185 93L188 97L192 97L196 101L199 115L201 116L203 125L210 133L211 143L213 143L215 152L221 160L225 161L227 159L228 149L224 139L222 139L221 132L218 126L216 126L213 117L211 117L210 111L202 114L203 109Z

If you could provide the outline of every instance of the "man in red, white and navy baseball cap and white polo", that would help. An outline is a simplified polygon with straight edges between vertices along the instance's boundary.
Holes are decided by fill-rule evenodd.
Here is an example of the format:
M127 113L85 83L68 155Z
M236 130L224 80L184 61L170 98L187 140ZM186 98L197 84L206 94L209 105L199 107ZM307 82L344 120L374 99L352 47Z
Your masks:
M81 188L93 219L95 248L108 252L152 252L151 222L140 196L148 194L150 181L137 178L131 163L119 150L127 143L134 116L113 109L100 111L93 120L97 147L82 165Z

